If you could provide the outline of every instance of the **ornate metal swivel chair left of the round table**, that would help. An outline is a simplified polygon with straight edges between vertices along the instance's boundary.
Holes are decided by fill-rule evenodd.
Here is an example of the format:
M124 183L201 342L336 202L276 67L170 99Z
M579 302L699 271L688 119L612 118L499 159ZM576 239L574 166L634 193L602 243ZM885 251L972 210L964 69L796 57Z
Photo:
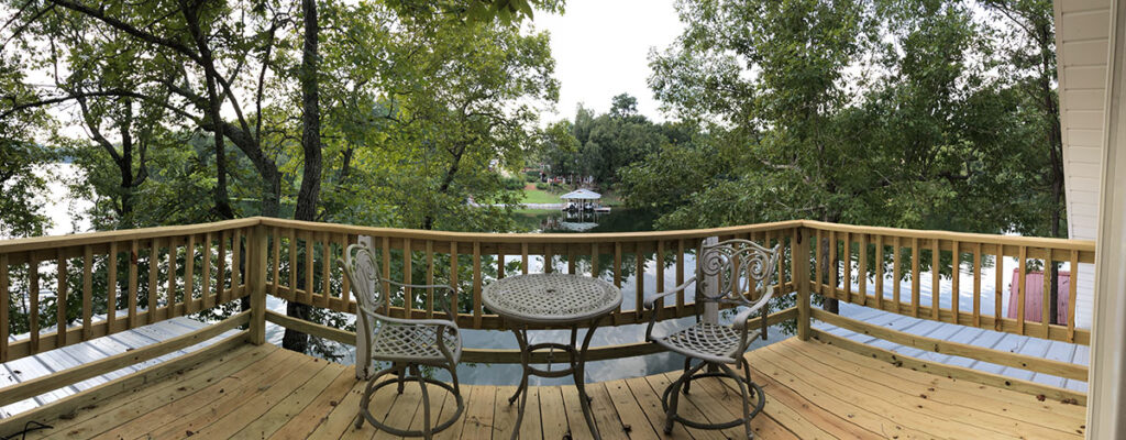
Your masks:
M345 251L345 268L352 291L359 305L358 318L361 320L361 329L366 347L370 350L370 361L391 362L391 367L376 372L368 379L364 396L359 403L359 415L357 415L356 428L364 425L367 419L376 428L395 435L425 437L431 439L439 432L454 424L462 415L465 404L462 401L461 387L457 384L457 361L462 358L462 336L455 323L454 314L450 313L446 302L435 300L449 320L401 320L379 314L388 300L388 293L382 291L383 282L393 286L410 287L414 289L435 289L434 291L446 291L447 299L452 293L449 286L443 285L408 285L379 278L379 264L375 261L375 254L366 244L352 244ZM443 289L443 290L439 290ZM359 327L357 329L359 330ZM357 353L358 354L358 353ZM364 360L356 359L357 365ZM450 386L444 381L435 380L422 376L420 366L445 368L454 379ZM397 374L397 378L392 377L379 380L383 376ZM368 408L372 394L379 388L391 384L399 384L399 393L403 393L403 385L406 381L417 381L422 390L423 428L421 431L405 431L399 428L388 426L372 416ZM430 420L430 397L427 394L427 384L445 388L457 398L457 411L446 421L438 425L432 425Z

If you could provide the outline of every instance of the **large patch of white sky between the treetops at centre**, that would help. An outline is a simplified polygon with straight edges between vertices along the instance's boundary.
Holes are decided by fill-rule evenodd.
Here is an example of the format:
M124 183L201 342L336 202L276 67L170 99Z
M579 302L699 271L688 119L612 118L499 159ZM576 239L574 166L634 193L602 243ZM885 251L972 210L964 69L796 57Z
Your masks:
M650 50L663 51L683 29L672 0L568 0L564 15L540 12L534 25L552 35L560 81L556 114L544 119L571 119L579 104L608 111L623 92L637 98L642 115L667 119L646 80Z

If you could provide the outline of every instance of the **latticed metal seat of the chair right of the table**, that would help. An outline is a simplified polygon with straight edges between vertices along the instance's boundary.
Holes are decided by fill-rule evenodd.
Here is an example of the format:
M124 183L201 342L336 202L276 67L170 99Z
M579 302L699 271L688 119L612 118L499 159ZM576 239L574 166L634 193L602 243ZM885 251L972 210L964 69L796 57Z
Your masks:
M653 340L656 344L680 354L714 362L734 363L740 352L740 331L729 325L696 323L674 333ZM747 341L758 338L758 332L748 332Z

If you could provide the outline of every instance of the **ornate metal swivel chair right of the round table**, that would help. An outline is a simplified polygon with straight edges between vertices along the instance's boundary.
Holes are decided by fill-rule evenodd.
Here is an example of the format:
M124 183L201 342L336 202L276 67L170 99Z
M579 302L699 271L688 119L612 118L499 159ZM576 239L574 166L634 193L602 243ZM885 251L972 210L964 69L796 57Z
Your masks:
M766 395L762 388L751 380L751 366L743 357L747 347L760 334L766 334L767 303L774 293L770 282L778 266L778 249L763 248L748 240L727 240L715 244L701 243L696 253L696 276L677 286L670 291L660 293L645 298L645 308L653 309L658 299L683 290L696 282L696 323L665 335L654 335L656 313L650 316L645 339L653 341L669 351L687 357L685 371L664 389L661 404L664 408L664 432L672 432L673 422L696 429L727 429L740 423L747 429L747 438L754 437L751 431L751 420L762 411ZM717 286L712 286L715 282ZM700 321L700 311L705 303L733 304L747 308L735 315L731 325L720 325ZM763 329L750 331L747 320L761 311ZM699 362L692 366L692 360ZM735 368L742 366L740 377ZM705 366L709 367L699 372ZM727 377L739 384L743 399L743 417L725 423L701 423L687 420L677 414L679 394L688 388L692 380L703 377ZM754 411L750 411L749 401L756 398Z

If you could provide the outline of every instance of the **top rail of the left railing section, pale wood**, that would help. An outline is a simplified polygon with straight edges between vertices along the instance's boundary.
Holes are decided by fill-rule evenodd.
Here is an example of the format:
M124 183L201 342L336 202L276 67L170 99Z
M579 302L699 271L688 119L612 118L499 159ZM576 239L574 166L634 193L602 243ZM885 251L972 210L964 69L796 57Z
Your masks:
M100 231L81 234L43 235L26 239L0 240L0 253L37 251L41 249L80 246L84 244L143 240L171 235L202 234L206 232L253 226L260 223L260 217L249 217L212 223L197 223L194 225L142 227L135 230Z

